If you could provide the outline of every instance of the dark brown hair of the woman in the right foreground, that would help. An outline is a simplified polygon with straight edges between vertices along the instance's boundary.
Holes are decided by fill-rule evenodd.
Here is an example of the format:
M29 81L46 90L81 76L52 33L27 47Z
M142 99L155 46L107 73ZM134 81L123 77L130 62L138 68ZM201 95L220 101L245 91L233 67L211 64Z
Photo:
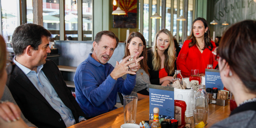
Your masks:
M256 94L255 33L255 20L238 22L226 30L217 50L221 59L226 60L226 64L253 94Z

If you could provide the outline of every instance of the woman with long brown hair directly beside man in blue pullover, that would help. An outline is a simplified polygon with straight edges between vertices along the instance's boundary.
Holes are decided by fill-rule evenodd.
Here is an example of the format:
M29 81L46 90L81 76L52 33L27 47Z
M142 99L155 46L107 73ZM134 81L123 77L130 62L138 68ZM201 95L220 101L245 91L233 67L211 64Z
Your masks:
M136 72L136 84L134 86L133 92L137 92L138 100L149 97L149 73L148 73L148 65L147 65L147 51L146 51L146 40L140 32L132 32L128 36L128 40L125 46L125 55L134 56L137 52L139 52L138 57L143 56L144 58L140 61L140 69ZM123 58L123 59L124 59ZM122 62L122 60L120 61ZM122 78L126 79L126 75L122 76Z

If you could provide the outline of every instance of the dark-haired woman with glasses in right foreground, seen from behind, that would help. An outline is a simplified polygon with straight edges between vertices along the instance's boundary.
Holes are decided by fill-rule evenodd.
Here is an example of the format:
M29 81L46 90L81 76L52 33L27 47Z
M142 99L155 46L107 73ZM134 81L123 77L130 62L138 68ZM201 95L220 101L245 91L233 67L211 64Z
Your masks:
M234 94L238 107L228 118L214 124L212 128L256 126L255 33L256 21L245 20L232 25L220 40L216 57L221 81Z

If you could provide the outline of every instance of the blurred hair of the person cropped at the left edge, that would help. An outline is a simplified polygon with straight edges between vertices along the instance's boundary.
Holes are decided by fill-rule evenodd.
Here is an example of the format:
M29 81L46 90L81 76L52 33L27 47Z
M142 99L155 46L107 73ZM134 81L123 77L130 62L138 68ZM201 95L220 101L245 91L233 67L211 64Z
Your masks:
M0 35L0 78L2 77L6 67L6 59L6 44L4 38Z

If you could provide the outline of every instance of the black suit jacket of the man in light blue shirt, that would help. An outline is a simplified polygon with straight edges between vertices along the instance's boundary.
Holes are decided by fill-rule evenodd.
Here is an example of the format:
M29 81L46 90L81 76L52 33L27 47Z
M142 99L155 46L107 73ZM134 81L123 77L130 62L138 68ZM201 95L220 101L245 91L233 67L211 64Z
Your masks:
M86 118L76 99L68 90L58 66L52 60L46 60L42 71L62 102L72 111L76 123L78 123L79 116ZM50 106L18 66L15 66L7 86L24 116L38 128L66 128L60 114Z

